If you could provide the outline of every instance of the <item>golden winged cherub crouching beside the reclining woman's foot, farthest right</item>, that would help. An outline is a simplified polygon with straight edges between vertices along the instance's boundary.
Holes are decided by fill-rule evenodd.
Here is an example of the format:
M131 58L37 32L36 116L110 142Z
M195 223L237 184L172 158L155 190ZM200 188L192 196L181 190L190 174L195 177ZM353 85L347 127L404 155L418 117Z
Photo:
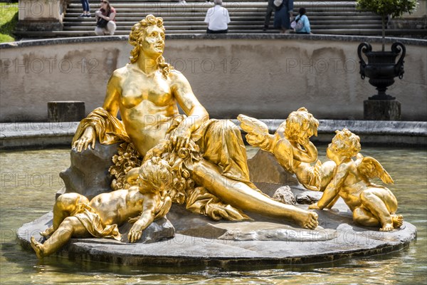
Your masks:
M397 215L397 199L386 187L375 185L371 178L379 177L384 183L393 183L390 175L372 157L359 154L360 138L347 129L337 130L327 147L327 157L337 165L333 170L322 198L309 209L332 207L337 197L353 212L353 220L366 227L377 227L389 232L401 227L402 215ZM352 157L357 156L357 160Z

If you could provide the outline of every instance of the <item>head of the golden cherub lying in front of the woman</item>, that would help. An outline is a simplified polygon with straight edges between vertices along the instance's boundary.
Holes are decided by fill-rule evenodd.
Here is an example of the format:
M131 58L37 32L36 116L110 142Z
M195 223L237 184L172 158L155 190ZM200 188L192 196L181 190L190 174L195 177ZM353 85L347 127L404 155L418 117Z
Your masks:
M152 157L139 167L139 191L162 192L172 185L172 169L166 160Z

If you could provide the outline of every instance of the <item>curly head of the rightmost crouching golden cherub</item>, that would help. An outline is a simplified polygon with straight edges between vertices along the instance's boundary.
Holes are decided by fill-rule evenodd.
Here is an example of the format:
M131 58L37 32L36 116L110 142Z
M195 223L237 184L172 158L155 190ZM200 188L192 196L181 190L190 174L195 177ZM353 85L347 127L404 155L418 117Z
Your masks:
M327 153L335 152L344 157L354 157L359 153L361 146L358 135L354 135L354 133L346 128L336 130L335 133L336 135L332 138L332 143L327 147Z

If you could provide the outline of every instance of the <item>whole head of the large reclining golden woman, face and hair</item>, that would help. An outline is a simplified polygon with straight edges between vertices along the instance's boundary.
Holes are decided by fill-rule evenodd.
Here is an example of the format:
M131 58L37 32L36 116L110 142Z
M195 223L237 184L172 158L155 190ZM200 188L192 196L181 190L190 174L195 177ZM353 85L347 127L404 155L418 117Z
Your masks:
M160 38L162 40L160 40ZM130 62L136 63L144 48L157 57L157 63L162 68L165 77L172 70L169 63L165 63L162 53L164 51L164 26L163 19L149 14L137 24L132 26L129 34L129 43L134 46L130 52Z

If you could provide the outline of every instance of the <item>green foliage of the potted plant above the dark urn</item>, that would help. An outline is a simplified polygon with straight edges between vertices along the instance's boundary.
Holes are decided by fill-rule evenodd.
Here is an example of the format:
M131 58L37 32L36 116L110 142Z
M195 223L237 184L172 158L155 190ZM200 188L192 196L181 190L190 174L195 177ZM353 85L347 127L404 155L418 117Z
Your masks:
M357 9L380 16L399 17L416 9L416 0L357 0Z

